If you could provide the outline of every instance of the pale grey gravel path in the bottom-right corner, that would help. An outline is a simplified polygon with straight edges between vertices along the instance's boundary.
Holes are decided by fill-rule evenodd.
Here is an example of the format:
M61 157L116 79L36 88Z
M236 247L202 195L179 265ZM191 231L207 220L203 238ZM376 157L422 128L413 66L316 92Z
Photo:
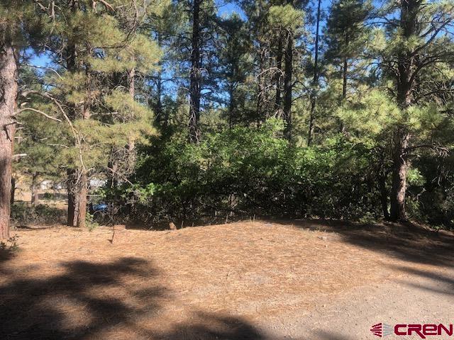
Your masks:
M419 271L401 268L407 274L386 283L363 287L326 302L300 317L296 314L267 322L269 339L360 340L379 339L372 325L453 324L454 269ZM426 336L454 339L453 336ZM421 339L418 335L384 339Z

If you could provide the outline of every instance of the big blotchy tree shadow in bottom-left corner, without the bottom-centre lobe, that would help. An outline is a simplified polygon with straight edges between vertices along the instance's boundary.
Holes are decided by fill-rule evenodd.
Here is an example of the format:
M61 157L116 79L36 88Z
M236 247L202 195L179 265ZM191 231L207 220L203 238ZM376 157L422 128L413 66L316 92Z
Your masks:
M141 259L72 261L61 267L59 274L44 278L9 272L8 283L0 286L0 317L6 320L0 325L3 339L85 339L157 307L156 298L162 295L161 288L155 287L142 297L146 307L126 303L139 292L128 291L131 287L123 278L156 275Z

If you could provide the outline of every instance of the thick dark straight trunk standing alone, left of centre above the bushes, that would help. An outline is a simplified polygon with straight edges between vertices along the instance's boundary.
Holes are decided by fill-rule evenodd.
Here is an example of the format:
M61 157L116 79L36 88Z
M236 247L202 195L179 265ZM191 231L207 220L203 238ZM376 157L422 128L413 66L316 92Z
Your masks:
M201 56L200 56L200 4L203 0L194 0L192 8L192 53L189 85L189 141L200 140L200 96L201 96Z

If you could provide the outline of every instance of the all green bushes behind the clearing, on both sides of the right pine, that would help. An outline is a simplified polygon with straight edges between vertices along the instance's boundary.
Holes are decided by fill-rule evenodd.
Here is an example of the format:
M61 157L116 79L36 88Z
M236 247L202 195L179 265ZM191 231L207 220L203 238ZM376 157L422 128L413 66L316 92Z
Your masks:
M279 120L269 120L260 128L206 134L199 145L177 134L156 138L139 153L135 184L111 192L111 199L124 215L150 223L253 215L362 222L384 217L391 181L385 145L336 135L323 145L297 147L282 130ZM446 162L430 155L414 160L410 218L452 224L453 164Z

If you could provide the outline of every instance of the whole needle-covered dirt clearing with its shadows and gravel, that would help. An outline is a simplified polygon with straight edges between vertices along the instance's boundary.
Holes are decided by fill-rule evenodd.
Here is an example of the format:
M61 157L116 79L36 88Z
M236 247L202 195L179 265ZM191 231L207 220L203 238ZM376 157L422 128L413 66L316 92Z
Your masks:
M0 259L0 334L345 340L374 339L379 322L452 323L454 236L413 228L256 221L113 242L109 227L18 229Z

